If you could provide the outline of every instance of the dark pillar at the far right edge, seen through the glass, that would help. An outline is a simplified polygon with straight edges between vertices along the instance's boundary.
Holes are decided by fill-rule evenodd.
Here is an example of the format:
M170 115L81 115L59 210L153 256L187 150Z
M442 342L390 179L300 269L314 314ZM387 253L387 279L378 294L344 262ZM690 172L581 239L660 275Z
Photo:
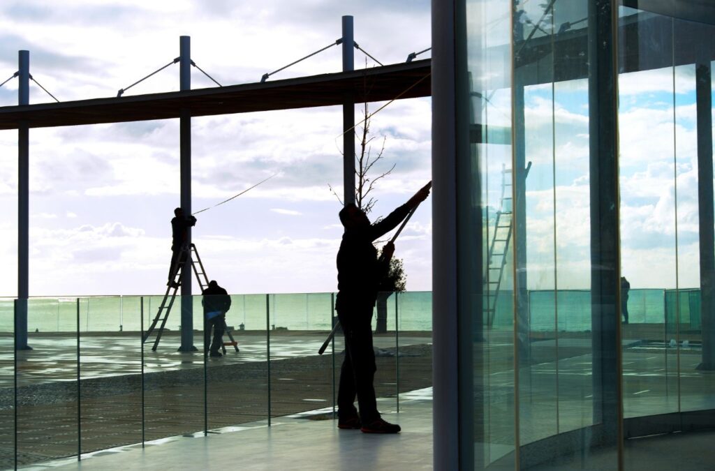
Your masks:
M706 37L706 36L703 36ZM715 370L715 234L713 217L712 81L705 47L695 64L698 129L698 214L700 220L700 296L703 338L699 370Z

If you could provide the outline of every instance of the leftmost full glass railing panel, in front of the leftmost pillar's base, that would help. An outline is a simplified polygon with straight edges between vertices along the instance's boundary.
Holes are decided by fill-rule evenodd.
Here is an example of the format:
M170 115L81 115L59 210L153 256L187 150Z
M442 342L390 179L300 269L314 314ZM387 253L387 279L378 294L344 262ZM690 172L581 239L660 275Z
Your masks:
M77 455L77 310L77 299L28 301L32 349L16 352L19 466Z

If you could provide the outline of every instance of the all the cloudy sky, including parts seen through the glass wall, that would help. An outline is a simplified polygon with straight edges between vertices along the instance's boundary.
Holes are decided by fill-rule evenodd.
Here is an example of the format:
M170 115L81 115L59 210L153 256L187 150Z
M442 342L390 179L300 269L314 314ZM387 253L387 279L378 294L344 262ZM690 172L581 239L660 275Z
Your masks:
M355 40L384 64L430 46L426 0L363 1L4 1L0 4L0 81L28 49L31 74L61 101L116 96L169 63L179 36L192 59L222 84L259 81L340 36L355 18ZM503 4L498 4L503 7ZM534 19L541 16L529 3ZM501 10L499 10L501 11ZM496 88L484 122L510 125L504 75L508 15L495 10L483 36L494 46L484 69ZM581 12L560 10L565 18ZM559 17L560 18L560 17ZM551 26L558 28L556 18ZM471 30L470 30L471 31ZM471 39L478 36L471 31ZM506 35L506 36L505 36ZM470 47L476 47L470 42ZM424 54L423 57L429 56ZM374 66L360 51L355 66ZM270 80L339 71L332 47ZM5 71L5 72L3 72ZM478 81L475 83L479 83ZM192 87L213 86L197 69ZM477 85L479 86L479 85ZM699 277L694 69L619 77L622 270L631 287L696 287ZM177 65L125 95L179 88ZM31 103L51 101L31 82ZM0 106L16 104L17 81L0 87ZM377 109L383 103L371 104ZM430 99L395 101L373 117L385 139L383 172L371 217L384 216L430 179ZM360 109L356 107L356 115ZM590 286L588 91L585 80L526 90L528 288ZM358 117L358 121L360 118ZM342 228L341 109L211 116L192 120L192 207L209 207L262 179L260 187L199 214L194 242L210 278L232 293L330 292ZM0 132L0 296L16 294L16 132ZM30 294L156 294L169 263L169 219L179 205L177 120L103 124L30 132ZM377 149L373 149L373 152ZM499 207L501 164L511 148L480 156L485 204ZM408 290L431 289L431 206L400 236ZM555 253L554 248L558 249Z

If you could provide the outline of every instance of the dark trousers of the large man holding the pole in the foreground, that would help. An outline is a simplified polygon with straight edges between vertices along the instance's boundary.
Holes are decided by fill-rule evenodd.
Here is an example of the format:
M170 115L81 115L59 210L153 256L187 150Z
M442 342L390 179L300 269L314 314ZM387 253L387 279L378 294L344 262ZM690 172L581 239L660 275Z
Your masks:
M341 419L354 416L358 412L354 405L357 396L360 420L370 423L380 418L373 386L377 370L370 325L373 308L340 309L337 317L345 334L345 360L342 360L337 390L337 415Z

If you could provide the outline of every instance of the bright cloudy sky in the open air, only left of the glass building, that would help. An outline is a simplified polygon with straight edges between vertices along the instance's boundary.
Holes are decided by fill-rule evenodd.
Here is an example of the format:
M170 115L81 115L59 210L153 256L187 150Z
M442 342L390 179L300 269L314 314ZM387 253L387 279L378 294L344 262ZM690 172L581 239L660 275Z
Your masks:
M3 1L0 81L17 70L17 51L27 49L30 73L60 101L116 96L177 57L179 36L187 35L192 59L217 81L251 83L333 43L346 14L354 16L355 41L383 64L430 47L426 0ZM374 65L355 51L356 68ZM332 47L270 80L341 66L340 47ZM192 69L192 88L209 86ZM175 64L124 95L178 88ZM47 101L31 82L31 104ZM0 87L0 106L16 103L12 79ZM379 170L395 169L375 189L372 219L431 179L430 106L429 99L400 100L373 117L375 142L385 139ZM342 194L341 114L326 107L192 119L194 211L275 174L198 215L193 239L209 278L236 294L335 291L342 228L328 185ZM0 132L0 156L0 255L8 261L0 296L14 296L16 132ZM30 296L163 292L169 220L178 205L178 120L31 129ZM395 252L408 290L431 289L431 230L428 200Z

